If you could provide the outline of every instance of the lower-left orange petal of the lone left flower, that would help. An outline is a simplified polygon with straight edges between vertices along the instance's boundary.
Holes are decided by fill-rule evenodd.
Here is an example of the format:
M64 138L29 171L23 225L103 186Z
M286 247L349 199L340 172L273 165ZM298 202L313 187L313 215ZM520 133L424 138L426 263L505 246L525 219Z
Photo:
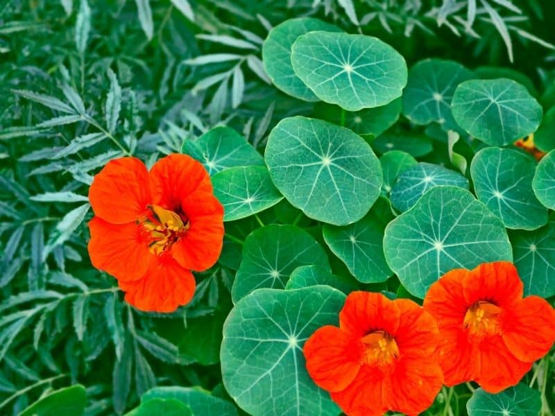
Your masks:
M92 265L121 281L144 276L152 254L148 241L135 223L111 224L95 216L89 222L89 256Z

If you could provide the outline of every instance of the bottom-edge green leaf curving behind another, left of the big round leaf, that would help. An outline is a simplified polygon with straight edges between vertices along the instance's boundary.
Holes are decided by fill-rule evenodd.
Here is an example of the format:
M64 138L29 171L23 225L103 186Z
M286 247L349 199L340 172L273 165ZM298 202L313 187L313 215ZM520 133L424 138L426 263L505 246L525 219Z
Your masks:
M191 408L194 415L237 416L237 408L229 401L215 397L202 388L155 387L144 393L141 402L152 399L176 399ZM155 413L151 413L155 415Z

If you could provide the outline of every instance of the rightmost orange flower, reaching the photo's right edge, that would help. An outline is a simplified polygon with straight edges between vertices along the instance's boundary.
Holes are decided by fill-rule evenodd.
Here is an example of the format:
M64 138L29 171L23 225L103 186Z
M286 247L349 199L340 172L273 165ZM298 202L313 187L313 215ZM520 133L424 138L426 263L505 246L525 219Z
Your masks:
M473 380L500 392L517 384L555 340L554 309L538 296L522 299L522 281L506 261L447 272L429 288L424 309L438 322L447 385Z

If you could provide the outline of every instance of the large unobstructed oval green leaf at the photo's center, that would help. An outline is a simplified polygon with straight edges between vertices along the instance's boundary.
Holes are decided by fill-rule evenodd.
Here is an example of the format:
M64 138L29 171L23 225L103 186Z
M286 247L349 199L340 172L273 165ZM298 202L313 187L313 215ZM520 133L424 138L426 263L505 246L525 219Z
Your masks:
M382 168L366 141L327 121L283 119L268 137L265 158L291 205L324 223L361 219L382 187Z

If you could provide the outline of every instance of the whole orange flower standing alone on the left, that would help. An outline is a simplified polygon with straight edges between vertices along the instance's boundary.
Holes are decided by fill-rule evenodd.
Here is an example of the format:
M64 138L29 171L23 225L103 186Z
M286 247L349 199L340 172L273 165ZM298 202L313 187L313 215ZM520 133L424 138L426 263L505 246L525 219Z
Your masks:
M203 165L169 155L148 172L135 157L114 159L94 177L89 200L93 266L116 277L137 309L187 304L195 291L190 270L213 266L223 241L223 207Z

